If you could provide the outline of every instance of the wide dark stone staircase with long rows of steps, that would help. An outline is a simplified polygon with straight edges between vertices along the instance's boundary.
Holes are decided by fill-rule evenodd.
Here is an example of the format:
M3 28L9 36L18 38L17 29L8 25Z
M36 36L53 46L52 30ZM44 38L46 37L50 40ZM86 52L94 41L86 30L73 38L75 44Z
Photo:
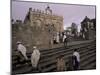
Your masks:
M73 50L79 49L80 53L80 70L96 69L96 43L88 41L85 43L78 43L69 45L67 48L59 47L53 49L40 50L41 59L39 67L41 72L56 72L56 58L59 54L64 55L66 64L68 58L72 56ZM31 53L27 54L30 58ZM28 65L24 62L20 64L17 60L17 54L12 55L12 74L25 74L25 73L39 73L40 71L32 71L31 61L29 59Z

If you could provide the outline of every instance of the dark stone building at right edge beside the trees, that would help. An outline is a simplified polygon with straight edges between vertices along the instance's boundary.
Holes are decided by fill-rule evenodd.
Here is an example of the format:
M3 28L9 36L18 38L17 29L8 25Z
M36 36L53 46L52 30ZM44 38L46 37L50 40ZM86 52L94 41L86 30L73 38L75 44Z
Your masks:
M87 16L81 22L81 35L86 40L96 39L96 19Z

